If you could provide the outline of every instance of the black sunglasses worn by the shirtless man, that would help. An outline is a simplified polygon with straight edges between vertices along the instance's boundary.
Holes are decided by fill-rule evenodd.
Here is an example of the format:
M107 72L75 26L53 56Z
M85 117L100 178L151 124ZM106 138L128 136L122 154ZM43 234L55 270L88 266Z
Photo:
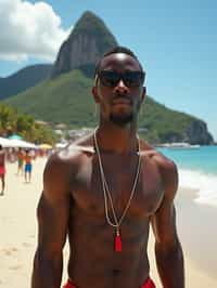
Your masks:
M112 71L101 70L98 73L95 80L100 79L102 86L114 88L122 79L127 87L139 87L144 82L145 74L143 71Z

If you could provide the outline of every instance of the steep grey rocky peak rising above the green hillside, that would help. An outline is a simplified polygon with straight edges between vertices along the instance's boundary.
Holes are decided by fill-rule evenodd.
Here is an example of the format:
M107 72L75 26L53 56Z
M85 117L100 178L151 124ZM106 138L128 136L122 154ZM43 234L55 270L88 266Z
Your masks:
M94 67L99 58L117 41L92 12L86 12L76 23L72 34L61 45L51 76L56 77L75 68Z

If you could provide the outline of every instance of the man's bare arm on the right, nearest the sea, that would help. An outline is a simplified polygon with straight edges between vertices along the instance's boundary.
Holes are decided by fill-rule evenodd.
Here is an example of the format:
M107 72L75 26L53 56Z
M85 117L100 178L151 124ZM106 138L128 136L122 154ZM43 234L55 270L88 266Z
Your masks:
M164 185L162 205L152 218L156 265L164 288L183 288L183 253L177 235L174 206L178 186L177 168L174 162L163 156L157 156L156 162Z

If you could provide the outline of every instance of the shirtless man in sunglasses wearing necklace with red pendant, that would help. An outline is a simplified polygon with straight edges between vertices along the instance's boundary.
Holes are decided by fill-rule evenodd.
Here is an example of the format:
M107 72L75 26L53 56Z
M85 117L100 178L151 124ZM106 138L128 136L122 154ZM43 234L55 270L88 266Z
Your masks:
M100 108L92 135L52 155L38 205L39 238L31 288L60 288L63 247L71 254L66 288L154 288L146 253L150 224L164 288L183 288L173 161L137 136L145 97L135 54L116 48L95 70Z

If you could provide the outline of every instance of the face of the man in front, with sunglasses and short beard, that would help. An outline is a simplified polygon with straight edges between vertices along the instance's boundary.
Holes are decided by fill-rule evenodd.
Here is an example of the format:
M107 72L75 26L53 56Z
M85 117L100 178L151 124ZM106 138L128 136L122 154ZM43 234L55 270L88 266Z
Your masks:
M143 82L138 78L141 71L137 60L128 54L114 53L102 60L93 87L101 117L118 126L125 126L137 118L145 95Z

